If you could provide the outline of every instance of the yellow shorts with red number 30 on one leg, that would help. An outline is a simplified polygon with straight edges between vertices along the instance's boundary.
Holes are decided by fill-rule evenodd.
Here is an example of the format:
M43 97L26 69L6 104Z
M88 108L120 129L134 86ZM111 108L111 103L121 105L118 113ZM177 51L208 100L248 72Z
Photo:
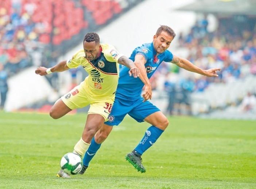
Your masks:
M82 86L83 85L83 86ZM84 108L85 106L90 105L88 114L96 113L100 114L105 118L105 121L108 120L109 113L112 110L113 102L115 97L106 98L106 97L93 97L92 94L88 93L88 90L85 90L84 81L74 87L70 92L66 93L61 97L62 101L70 109Z

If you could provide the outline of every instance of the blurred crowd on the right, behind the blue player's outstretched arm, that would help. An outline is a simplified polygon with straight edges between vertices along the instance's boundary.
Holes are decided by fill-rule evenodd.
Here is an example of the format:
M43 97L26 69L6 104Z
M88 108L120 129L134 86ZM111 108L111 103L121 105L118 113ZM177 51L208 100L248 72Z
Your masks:
M256 20L246 16L239 19L219 19L218 28L209 32L207 15L203 15L187 35L178 35L179 47L188 49L187 59L193 64L202 69L222 70L218 72L219 77L206 77L189 75L175 65L164 64L155 78L168 91L168 114L174 109L181 113L175 107L181 104L185 105L186 114L191 114L190 94L205 91L210 83L234 83L248 75L256 76ZM155 89L158 88L155 82Z

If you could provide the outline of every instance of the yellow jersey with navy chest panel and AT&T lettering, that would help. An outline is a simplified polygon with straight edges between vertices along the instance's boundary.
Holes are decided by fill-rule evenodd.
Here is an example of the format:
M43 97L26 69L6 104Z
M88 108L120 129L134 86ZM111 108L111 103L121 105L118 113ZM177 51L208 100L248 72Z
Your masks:
M109 44L101 44L100 55L96 60L88 60L85 57L84 49L76 52L70 60L67 60L67 67L84 67L89 76L85 78L83 87L94 97L115 97L119 79L118 59L124 56L115 47Z

